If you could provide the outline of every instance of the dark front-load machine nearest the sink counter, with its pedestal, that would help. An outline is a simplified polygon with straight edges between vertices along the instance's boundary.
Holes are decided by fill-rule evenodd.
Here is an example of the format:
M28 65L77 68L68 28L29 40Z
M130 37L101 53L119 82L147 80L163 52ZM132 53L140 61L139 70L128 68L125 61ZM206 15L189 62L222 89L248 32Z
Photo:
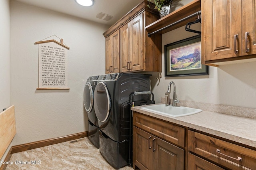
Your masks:
M150 75L101 75L94 91L94 109L100 128L100 153L118 169L129 164L130 103L134 91L150 90ZM136 95L134 101L149 100Z

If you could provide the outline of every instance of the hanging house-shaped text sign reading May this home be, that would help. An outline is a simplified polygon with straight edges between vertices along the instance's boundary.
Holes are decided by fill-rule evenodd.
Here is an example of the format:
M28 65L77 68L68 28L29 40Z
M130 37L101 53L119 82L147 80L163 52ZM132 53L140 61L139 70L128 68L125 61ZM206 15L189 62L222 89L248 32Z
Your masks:
M38 47L38 90L68 88L68 49L61 42L36 42Z

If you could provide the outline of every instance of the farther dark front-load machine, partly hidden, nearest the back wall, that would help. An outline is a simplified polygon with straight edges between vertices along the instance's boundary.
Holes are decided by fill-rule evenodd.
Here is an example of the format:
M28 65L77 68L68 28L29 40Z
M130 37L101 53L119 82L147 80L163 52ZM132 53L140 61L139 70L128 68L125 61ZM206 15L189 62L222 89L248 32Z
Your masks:
M99 124L94 111L94 89L97 85L99 76L88 77L84 86L84 109L88 117L88 138L96 148L100 147Z

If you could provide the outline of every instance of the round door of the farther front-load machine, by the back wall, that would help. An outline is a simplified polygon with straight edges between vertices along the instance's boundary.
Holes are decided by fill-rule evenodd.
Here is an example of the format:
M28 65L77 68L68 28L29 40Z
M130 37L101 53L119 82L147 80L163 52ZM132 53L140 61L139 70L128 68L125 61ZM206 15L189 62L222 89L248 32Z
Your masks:
M93 89L90 82L84 86L84 108L86 112L90 113L93 107Z

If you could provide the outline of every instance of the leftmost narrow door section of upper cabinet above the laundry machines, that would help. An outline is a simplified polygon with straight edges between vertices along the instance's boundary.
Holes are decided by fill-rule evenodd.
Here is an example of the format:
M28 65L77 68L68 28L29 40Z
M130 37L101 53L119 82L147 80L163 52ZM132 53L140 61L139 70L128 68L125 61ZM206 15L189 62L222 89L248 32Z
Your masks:
M119 30L106 38L106 73L119 73L120 72L120 42Z

